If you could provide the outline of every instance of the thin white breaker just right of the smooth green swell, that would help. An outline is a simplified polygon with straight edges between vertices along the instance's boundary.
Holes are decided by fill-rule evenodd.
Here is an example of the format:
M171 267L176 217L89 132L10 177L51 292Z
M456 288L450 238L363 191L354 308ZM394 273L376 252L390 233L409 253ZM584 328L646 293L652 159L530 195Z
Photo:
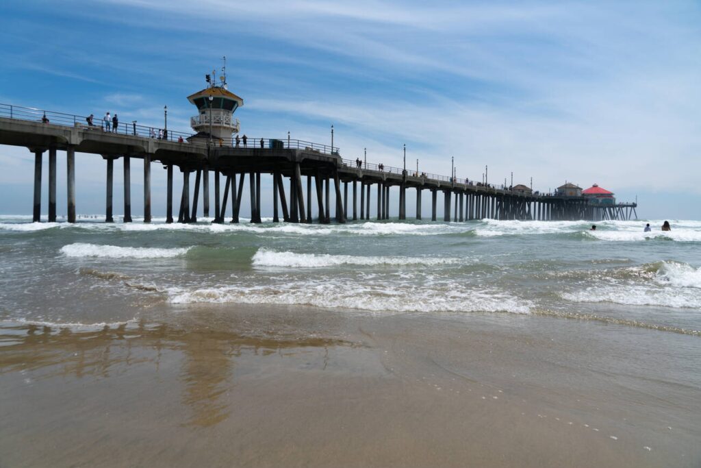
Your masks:
M328 255L318 253L276 252L260 248L253 255L256 267L320 268L339 265L450 265L461 262L459 258L439 257L358 257L353 255Z

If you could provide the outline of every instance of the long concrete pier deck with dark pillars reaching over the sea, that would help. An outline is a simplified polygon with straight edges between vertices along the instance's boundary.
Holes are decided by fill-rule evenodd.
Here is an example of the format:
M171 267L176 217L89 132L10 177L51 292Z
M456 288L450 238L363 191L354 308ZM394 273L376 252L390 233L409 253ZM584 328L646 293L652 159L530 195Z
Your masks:
M212 89L212 88L207 88ZM203 90L205 91L205 90ZM203 92L200 92L203 93ZM195 95L193 95L195 96ZM215 121L210 113L193 117L196 126L236 128L238 121ZM243 104L243 101L242 101ZM206 102L205 102L206 105ZM235 109L235 108L234 108ZM196 121L195 121L196 120ZM123 164L124 222L131 222L130 163L144 161L144 222L151 222L151 165L167 171L166 222L196 222L200 206L210 215L210 181L214 182L215 222L239 222L245 185L250 194L250 220L261 222L261 177L272 178L273 222L343 223L347 220L388 220L390 201L398 197L399 220L437 221L437 203L443 203L442 221L469 220L630 220L637 219L637 203L599 205L585 196L521 193L509 187L483 185L444 175L379 166L343 159L339 148L290 138L234 138L198 133L159 131L136 123L104 128L100 117L90 125L86 116L0 104L0 145L27 147L34 154L33 220L41 219L41 170L48 154L48 221L56 221L57 154L65 153L67 220L76 221L76 152L95 154L105 161L105 221L113 222L114 163ZM231 135L231 133L229 133ZM160 138L159 138L160 137ZM182 174L179 203L173 203L173 177ZM416 191L414 216L407 213L407 189ZM329 206L330 192L334 206ZM375 194L374 203L371 203ZM179 196L178 196L179 195ZM421 200L430 196L430 213ZM177 208L177 212L174 211ZM315 208L315 210L313 210ZM313 218L313 211L317 214Z

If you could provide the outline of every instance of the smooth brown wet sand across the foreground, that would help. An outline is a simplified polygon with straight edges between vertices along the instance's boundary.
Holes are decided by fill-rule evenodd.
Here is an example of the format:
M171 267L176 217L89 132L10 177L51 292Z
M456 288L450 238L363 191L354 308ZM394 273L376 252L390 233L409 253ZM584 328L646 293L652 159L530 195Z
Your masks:
M697 336L515 314L0 326L0 467L697 467Z

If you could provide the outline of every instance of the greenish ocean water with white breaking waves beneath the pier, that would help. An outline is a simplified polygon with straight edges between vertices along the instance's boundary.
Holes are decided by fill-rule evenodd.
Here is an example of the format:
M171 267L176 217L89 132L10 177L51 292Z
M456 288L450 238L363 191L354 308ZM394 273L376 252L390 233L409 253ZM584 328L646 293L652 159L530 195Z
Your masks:
M189 307L494 314L701 335L701 222L31 223L0 217L0 321L100 327Z

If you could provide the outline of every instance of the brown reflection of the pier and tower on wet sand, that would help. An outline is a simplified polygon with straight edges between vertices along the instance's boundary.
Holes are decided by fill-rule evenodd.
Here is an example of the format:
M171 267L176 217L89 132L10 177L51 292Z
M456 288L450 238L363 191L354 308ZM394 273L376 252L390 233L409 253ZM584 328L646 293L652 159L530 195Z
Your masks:
M190 412L182 425L208 427L226 420L236 386L234 368L242 356L278 359L320 349L324 365L329 347L351 342L322 337L237 333L231 330L184 329L165 323L104 326L86 330L0 323L0 375L76 379L121 378L152 367L175 366L182 384L181 401Z

